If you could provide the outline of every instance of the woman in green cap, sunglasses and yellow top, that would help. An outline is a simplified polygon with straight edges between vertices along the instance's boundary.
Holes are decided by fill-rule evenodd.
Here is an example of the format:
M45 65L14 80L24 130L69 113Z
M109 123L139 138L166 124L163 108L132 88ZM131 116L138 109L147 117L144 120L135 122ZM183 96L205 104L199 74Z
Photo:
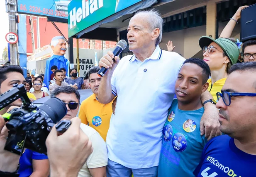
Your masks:
M241 42L236 44L232 39L214 40L208 36L202 36L199 39L199 45L203 50L203 59L211 69L211 78L207 81L210 85L208 91L217 101L216 93L222 89L229 68L238 60L240 53L238 45L241 45Z

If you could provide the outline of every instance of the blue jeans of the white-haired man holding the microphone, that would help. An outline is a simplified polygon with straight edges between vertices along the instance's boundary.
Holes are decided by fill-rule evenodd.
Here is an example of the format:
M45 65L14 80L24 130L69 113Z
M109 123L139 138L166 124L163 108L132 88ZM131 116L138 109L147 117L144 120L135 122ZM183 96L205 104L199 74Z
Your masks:
M107 177L157 177L158 166L151 168L131 169L108 159Z

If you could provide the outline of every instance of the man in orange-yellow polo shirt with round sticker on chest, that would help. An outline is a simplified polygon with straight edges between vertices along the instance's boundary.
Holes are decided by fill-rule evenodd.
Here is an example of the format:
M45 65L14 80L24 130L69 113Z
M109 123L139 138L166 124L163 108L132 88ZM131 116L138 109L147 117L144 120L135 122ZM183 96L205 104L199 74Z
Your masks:
M97 99L101 80L97 74L99 70L100 67L95 66L88 72L90 87L93 94L82 102L78 117L81 119L82 123L93 127L106 141L112 115L112 102L101 104Z

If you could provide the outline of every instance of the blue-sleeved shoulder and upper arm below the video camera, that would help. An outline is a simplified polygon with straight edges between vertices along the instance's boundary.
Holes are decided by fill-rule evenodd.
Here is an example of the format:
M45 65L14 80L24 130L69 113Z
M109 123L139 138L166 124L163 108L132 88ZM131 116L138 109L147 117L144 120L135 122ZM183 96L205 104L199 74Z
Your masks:
M48 177L48 157L42 153L26 149L20 157L20 168L18 173L20 174L20 177L29 177L30 175L36 177Z

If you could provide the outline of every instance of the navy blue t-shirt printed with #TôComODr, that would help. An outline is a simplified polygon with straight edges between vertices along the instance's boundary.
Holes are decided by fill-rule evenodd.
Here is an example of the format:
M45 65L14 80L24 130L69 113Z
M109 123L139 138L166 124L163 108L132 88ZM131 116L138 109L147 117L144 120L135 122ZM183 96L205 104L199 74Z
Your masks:
M238 149L234 138L221 135L211 139L204 148L196 177L256 177L256 155Z

